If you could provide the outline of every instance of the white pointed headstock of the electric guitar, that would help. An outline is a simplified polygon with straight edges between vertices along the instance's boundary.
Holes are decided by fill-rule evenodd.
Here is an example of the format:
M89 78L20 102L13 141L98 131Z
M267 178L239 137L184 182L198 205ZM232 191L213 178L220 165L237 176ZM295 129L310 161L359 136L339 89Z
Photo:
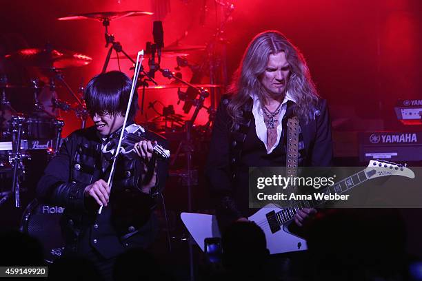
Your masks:
M406 167L406 165L379 159L370 160L365 173L368 178L379 178L381 176L405 176L406 178L414 178L414 172Z

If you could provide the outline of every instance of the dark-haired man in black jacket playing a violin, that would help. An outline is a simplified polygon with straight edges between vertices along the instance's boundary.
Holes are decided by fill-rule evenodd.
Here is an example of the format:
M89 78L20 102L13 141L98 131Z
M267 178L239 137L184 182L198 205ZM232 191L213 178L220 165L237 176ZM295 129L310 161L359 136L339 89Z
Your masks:
M113 156L105 153L105 147L119 140L131 85L128 76L118 71L91 79L84 98L94 125L66 138L37 186L40 200L65 207L64 254L88 258L106 280L111 279L120 253L152 244L157 233L152 210L168 175L168 161L154 152L159 145L167 147L165 139L134 123L135 91L126 130L136 128L139 138L131 147L123 147L134 153L119 154L111 186L107 183Z

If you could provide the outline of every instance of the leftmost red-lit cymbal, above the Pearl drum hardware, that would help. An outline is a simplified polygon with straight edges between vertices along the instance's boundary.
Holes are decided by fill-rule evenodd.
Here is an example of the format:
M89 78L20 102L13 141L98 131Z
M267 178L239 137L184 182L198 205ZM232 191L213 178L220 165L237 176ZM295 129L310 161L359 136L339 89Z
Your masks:
M66 68L88 65L92 59L85 54L70 50L47 50L46 48L21 49L7 54L6 59L20 61L24 65L44 68Z

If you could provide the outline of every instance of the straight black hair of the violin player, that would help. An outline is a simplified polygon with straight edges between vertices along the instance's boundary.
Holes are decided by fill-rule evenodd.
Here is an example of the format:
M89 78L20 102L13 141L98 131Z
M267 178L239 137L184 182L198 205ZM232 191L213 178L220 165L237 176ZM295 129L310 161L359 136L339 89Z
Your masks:
M110 71L94 76L86 85L84 98L91 116L110 114L115 116L126 112L132 81L119 71ZM128 120L133 121L138 110L138 93L133 94Z

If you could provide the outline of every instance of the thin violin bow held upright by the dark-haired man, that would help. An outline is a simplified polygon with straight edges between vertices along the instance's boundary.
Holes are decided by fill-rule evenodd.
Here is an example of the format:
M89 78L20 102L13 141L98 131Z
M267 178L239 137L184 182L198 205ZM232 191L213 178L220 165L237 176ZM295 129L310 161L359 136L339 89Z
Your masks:
M121 132L120 132L119 143L117 144L117 148L114 152L113 163L112 163L112 167L111 167L111 170L110 170L110 176L108 176L107 184L110 187L110 190L112 188L112 179L113 179L113 176L114 176L114 167L116 166L116 159L117 159L117 156L120 153L121 140L123 139L123 134L125 132L126 123L128 122L130 104L132 103L134 91L137 90L137 81L138 81L138 76L139 76L139 70L141 70L142 61L143 61L143 50L138 52L137 62L135 63L135 69L134 69L134 75L133 75L133 81L132 81L132 88L130 89L128 107L126 107L125 120L123 121L123 126L122 126L122 129L121 129ZM98 210L98 214L101 214L102 210L103 210L103 205L100 206L100 208Z

